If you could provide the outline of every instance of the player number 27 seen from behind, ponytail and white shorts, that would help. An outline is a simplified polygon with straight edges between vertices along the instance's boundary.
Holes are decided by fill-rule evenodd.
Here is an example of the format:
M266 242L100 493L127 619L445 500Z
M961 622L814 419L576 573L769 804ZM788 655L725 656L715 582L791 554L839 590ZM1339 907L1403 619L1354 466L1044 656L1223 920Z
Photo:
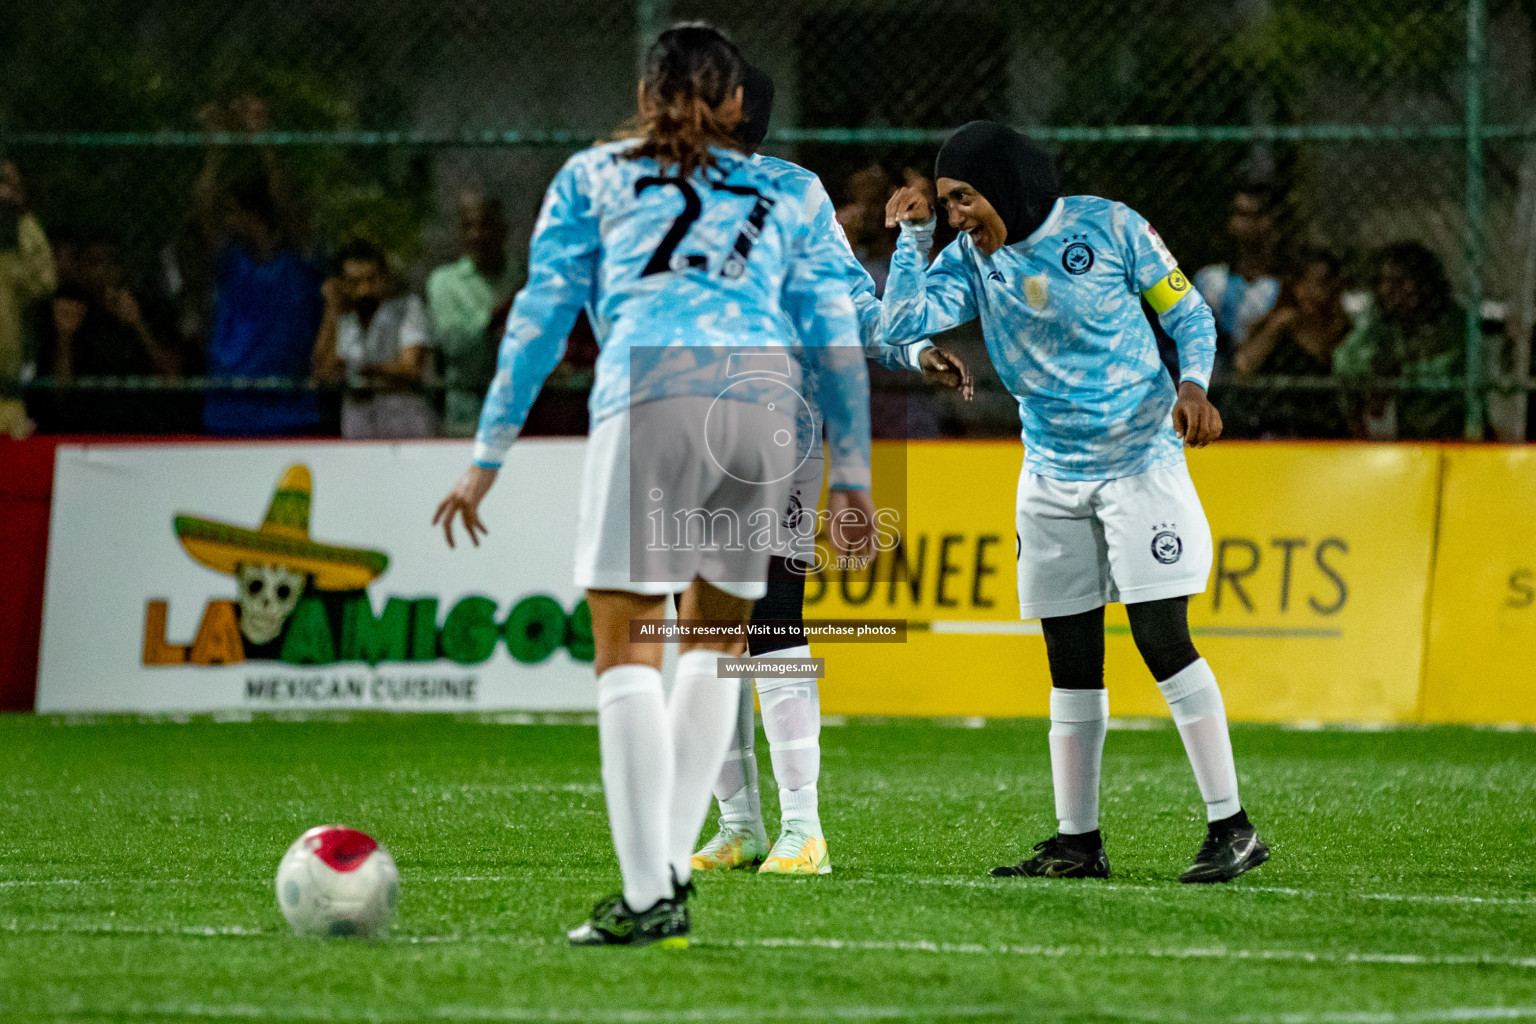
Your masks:
M677 591L684 619L740 625L763 596L768 553L733 528L782 514L799 457L802 362L831 448L834 547L860 550L871 530L859 325L836 252L803 207L782 201L733 149L742 74L717 29L674 26L647 54L641 138L581 152L556 175L473 465L433 520L450 545L455 517L478 542L479 502L588 306L601 355L576 583L591 606L604 792L624 890L570 932L576 946L687 946L690 854L739 694L716 663L745 645L685 642L668 700L662 648L631 640L630 625L660 620Z

